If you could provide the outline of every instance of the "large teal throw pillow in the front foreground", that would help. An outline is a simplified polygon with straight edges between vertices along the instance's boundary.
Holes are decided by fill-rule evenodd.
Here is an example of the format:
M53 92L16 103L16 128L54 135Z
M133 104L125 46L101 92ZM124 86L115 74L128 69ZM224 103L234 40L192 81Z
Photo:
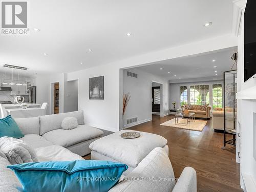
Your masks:
M9 165L24 191L106 192L128 168L122 163L96 160L48 161Z

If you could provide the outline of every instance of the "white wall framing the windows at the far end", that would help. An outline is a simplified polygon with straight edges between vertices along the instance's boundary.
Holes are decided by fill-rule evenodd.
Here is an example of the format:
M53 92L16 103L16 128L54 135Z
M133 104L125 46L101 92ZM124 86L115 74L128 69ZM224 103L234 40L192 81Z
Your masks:
M198 85L198 84L208 84L209 85L209 96L212 98L212 84L222 84L223 87L223 80L214 80L214 81L200 81L200 82L182 82L182 83L170 83L169 85L169 103L170 108L173 108L173 101L176 101L177 108L180 108L180 87L181 86L187 86L189 88L190 86ZM210 99L210 105L212 105L212 100Z

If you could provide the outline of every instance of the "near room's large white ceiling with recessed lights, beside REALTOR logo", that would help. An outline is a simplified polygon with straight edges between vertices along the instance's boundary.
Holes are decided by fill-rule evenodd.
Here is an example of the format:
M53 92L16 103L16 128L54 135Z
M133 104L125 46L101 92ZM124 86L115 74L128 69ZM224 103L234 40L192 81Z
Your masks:
M29 22L29 36L0 36L0 65L71 72L231 33L232 0L33 0Z

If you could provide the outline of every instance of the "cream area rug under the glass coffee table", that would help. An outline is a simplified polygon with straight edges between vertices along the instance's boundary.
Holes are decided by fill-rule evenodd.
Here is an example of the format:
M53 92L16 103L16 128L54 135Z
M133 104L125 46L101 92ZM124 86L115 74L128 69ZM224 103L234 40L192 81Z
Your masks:
M165 121L164 123L160 124L163 126L172 126L172 127L177 127L177 128L181 128L181 129L186 129L186 130L194 130L194 131L203 131L204 126L206 125L207 121L203 121L203 120L191 120L191 123L189 125L186 124L187 120L186 119L178 119L178 122L176 122L175 124L175 119L171 119L169 121ZM184 123L184 124L181 124Z

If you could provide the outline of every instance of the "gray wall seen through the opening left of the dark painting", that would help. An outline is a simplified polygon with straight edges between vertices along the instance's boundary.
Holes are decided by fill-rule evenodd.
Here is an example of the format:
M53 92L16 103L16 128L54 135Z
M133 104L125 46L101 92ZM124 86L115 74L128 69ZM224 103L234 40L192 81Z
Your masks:
M64 112L78 110L78 80L67 81L64 95Z

